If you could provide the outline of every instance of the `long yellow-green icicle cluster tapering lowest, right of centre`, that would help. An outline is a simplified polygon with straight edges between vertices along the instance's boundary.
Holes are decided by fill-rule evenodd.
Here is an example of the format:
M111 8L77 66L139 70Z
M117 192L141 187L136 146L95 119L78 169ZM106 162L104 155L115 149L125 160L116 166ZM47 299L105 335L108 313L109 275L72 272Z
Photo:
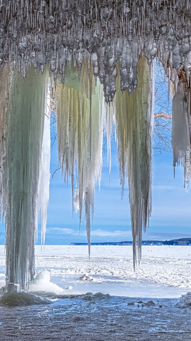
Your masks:
M131 209L134 266L136 246L141 257L142 228L146 231L152 210L152 138L154 79L152 67L141 57L138 66L136 94L121 95L117 84L115 97L118 162L122 195L125 171L128 174L129 204Z

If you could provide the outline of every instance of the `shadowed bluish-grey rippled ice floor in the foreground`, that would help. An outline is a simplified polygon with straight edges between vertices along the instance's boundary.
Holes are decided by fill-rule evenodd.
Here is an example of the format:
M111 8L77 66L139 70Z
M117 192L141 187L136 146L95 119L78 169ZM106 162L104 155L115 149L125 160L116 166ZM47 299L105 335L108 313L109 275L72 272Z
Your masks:
M1 306L1 341L191 340L191 309L176 308L180 299L153 299L154 307L127 306L127 302L138 300L111 296L87 301L78 297L50 305Z

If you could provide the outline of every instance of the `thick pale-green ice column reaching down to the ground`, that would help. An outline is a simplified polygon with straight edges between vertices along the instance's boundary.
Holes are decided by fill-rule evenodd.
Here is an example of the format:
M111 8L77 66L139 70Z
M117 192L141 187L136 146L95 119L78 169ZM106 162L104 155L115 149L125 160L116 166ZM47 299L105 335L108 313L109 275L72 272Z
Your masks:
M38 213L38 178L45 117L47 73L35 77L27 72L27 83L12 75L6 129L6 285L24 288L27 273L35 273L34 246Z

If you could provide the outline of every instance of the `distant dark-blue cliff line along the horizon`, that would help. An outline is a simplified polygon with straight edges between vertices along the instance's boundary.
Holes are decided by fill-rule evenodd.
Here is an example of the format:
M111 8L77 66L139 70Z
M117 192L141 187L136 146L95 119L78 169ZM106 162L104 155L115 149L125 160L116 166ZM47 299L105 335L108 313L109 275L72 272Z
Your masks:
M70 243L70 245L87 245L87 243ZM91 245L133 245L132 241L91 243ZM142 245L183 245L191 246L191 238L179 238L171 240L142 240Z

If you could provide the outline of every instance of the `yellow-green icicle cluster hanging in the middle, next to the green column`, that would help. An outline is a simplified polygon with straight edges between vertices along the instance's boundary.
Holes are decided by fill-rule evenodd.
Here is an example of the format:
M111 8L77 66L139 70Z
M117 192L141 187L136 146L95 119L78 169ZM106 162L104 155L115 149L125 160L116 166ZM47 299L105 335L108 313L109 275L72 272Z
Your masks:
M100 184L102 172L103 145L103 90L95 82L93 73L88 76L88 65L83 64L79 83L77 69L72 66L71 74L66 72L65 86L57 84L57 141L58 159L68 182L71 176L72 202L74 167L77 162L78 189L74 201L82 218L83 198L85 220L90 253L90 225L94 211L94 187ZM79 204L78 204L79 200Z

